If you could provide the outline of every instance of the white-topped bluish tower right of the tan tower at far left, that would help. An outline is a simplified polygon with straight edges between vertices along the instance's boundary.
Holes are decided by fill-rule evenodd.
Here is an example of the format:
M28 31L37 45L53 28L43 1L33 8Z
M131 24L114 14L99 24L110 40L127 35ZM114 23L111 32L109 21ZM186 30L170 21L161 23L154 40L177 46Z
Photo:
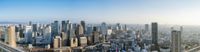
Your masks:
M25 26L25 42L32 43L32 26Z

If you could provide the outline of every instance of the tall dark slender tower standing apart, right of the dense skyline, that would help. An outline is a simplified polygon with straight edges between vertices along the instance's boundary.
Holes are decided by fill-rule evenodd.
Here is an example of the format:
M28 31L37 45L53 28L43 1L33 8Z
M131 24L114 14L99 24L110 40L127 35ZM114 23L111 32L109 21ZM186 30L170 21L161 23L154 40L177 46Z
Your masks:
M159 51L159 47L158 47L158 24L156 22L153 22L151 24L151 35L152 35L152 44L154 45L152 47L152 50L157 50Z

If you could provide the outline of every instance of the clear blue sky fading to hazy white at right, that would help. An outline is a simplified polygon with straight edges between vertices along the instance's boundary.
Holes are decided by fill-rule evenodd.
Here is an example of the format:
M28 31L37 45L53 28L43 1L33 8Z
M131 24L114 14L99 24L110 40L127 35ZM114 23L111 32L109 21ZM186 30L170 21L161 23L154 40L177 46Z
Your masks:
M0 22L200 25L198 0L0 0Z

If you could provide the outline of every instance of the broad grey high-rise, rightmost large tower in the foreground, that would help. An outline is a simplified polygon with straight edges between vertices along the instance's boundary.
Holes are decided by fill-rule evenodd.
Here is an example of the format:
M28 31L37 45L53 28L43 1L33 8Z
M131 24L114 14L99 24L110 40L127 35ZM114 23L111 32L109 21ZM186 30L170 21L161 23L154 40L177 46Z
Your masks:
M181 31L172 30L171 32L171 50L172 52L181 52Z

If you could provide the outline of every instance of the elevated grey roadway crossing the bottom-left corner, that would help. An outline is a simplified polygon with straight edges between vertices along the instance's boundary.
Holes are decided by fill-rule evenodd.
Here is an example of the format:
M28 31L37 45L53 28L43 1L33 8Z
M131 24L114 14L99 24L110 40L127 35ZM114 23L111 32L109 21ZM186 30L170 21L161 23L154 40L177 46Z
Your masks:
M17 49L17 48L13 48L8 44L5 44L3 42L0 41L0 48L5 50L6 52L25 52L23 50Z

